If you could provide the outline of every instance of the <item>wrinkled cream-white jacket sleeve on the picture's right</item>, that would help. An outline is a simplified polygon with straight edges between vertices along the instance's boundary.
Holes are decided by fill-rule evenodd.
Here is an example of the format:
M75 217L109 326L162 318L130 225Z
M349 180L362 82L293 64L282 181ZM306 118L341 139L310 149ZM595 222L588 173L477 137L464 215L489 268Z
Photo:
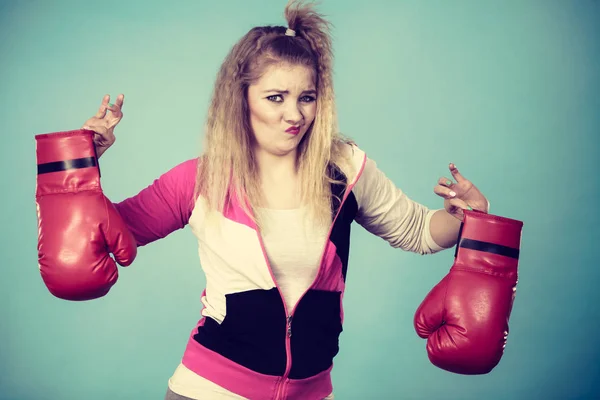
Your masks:
M356 222L386 240L392 247L418 254L443 250L431 237L429 223L437 210L411 200L367 158L354 195L358 203Z

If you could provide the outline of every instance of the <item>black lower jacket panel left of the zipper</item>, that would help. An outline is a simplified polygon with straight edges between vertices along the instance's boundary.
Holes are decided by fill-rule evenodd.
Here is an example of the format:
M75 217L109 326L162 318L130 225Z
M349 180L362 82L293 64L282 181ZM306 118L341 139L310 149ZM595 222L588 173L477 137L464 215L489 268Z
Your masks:
M287 321L277 288L228 294L219 325L207 317L194 339L206 348L265 375L283 375Z

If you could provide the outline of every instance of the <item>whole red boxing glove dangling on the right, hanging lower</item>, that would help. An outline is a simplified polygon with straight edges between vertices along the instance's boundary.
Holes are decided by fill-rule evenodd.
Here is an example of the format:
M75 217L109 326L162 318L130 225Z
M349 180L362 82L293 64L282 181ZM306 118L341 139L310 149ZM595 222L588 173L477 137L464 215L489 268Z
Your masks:
M414 317L435 366L487 374L502 358L517 290L523 222L465 211L454 265Z

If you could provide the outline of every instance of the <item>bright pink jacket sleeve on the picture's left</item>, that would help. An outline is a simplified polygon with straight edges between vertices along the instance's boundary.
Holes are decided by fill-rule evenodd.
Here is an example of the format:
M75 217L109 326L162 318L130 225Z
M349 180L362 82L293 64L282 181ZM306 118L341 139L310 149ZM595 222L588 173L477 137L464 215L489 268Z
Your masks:
M113 203L138 246L184 228L194 207L198 159L187 160L162 174L137 195Z

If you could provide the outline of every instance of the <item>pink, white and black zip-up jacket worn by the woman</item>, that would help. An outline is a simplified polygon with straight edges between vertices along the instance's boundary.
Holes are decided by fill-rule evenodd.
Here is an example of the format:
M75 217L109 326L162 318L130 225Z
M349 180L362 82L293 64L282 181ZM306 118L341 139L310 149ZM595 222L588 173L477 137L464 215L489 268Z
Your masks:
M365 153L347 145L347 183L332 185L332 224L312 285L288 309L259 231L234 200L217 223L204 224L205 199L193 198L198 159L185 161L139 194L116 203L138 246L189 225L206 276L202 318L182 363L217 385L253 400L323 399L344 320L343 295L353 221L392 247L427 254L434 210L409 199ZM341 200L341 201L340 201Z

